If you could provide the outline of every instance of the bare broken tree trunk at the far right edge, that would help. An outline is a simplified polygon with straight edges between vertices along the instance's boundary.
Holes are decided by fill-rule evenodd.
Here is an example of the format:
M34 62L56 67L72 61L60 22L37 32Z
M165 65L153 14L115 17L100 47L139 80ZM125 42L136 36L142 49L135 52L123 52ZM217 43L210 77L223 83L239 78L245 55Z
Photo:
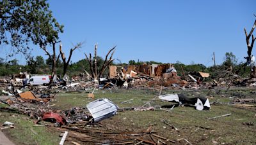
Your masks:
M254 16L256 17L256 15L254 15ZM247 34L247 31L244 28L244 33L246 36L246 44L247 44L247 49L248 49L247 50L248 57L244 57L244 59L246 59L246 64L248 64L248 62L250 62L250 60L252 59L252 48L253 48L254 41L256 39L256 38L254 38L252 33L253 33L255 27L256 27L256 20L255 20L249 34ZM252 36L252 43L250 43L251 36ZM255 66L253 66L251 69L251 78L256 78L256 67Z

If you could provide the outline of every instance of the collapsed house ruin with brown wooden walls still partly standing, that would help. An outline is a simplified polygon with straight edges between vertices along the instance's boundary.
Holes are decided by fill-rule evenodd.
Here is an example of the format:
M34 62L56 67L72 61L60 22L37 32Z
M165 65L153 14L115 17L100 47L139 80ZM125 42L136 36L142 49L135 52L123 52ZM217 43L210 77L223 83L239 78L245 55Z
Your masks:
M171 64L129 65L124 67L109 66L109 79L115 79L116 85L124 86L124 88L160 88L161 86L185 87L188 83L177 75L176 69ZM115 82L113 84L115 84Z

